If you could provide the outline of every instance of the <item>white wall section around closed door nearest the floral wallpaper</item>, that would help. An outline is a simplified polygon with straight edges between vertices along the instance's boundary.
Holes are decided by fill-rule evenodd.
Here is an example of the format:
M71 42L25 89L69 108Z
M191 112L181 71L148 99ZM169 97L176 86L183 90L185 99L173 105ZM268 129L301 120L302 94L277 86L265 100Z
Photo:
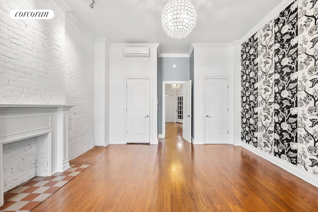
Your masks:
M233 46L231 44L201 45L193 44L194 57L194 144L204 144L204 77L229 77L233 85ZM233 125L233 91L229 90L230 137ZM232 142L232 141L229 141Z

